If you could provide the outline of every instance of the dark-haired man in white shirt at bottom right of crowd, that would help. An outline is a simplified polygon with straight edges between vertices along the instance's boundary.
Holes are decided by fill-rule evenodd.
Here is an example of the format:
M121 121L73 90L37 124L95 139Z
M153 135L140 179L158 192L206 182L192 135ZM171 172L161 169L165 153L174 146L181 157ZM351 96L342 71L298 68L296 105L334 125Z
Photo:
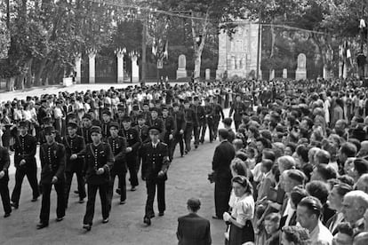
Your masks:
M320 220L322 213L322 203L316 197L305 197L298 204L297 221L309 231L311 245L332 245L332 233Z

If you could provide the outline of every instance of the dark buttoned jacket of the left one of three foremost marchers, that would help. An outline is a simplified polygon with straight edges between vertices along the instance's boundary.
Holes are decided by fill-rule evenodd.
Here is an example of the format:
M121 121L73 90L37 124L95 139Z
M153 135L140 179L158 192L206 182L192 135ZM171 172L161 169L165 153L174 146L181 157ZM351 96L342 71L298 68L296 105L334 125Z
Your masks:
M40 146L41 184L51 184L54 176L58 182L65 179L65 157L65 147L58 142Z

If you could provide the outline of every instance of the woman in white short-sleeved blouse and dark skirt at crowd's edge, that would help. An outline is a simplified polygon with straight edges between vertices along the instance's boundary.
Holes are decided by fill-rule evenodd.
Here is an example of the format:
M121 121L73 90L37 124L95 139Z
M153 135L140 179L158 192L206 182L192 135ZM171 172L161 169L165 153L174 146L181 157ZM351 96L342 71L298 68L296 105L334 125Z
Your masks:
M231 215L228 212L223 215L224 221L230 226L226 244L241 245L247 241L254 241L252 185L248 178L236 176L232 179L232 186L236 200Z

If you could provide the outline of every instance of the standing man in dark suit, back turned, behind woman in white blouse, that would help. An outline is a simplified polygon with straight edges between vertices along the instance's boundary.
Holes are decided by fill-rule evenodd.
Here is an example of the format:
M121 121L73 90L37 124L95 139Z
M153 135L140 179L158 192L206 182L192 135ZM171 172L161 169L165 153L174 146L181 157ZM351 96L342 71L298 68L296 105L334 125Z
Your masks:
M216 147L212 160L212 175L215 182L215 216L220 219L228 211L231 193L230 163L235 157L234 146L228 142L228 130L219 130L220 145Z

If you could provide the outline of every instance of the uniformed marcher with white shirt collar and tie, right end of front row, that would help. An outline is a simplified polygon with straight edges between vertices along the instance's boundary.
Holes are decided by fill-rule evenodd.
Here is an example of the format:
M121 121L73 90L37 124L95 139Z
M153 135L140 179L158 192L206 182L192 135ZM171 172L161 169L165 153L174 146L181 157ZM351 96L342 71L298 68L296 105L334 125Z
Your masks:
M147 202L144 223L151 225L151 218L155 217L153 203L155 201L157 186L157 202L159 216L164 216L166 205L164 202L164 182L167 180L166 172L169 169L169 152L167 145L158 140L160 128L151 127L149 138L151 141L143 145L142 152L146 155L142 163L142 178L146 180Z

